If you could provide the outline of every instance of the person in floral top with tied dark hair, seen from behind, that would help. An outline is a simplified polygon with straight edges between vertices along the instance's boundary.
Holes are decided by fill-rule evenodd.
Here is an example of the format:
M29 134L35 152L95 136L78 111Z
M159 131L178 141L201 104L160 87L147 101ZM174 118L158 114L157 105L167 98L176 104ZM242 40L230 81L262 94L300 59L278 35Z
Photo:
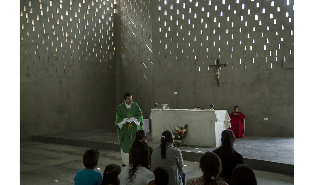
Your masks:
M221 160L214 152L206 152L200 160L200 168L203 172L202 177L191 178L187 180L187 185L198 184L221 184L227 185L223 178L219 177L222 172Z

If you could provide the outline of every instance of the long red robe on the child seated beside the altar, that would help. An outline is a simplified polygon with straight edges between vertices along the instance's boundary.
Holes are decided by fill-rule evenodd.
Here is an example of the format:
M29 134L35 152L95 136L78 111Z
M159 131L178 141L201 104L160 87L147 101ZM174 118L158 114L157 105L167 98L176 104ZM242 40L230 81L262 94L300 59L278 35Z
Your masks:
M234 113L234 112L233 112ZM231 113L230 116L230 127L228 129L232 130L236 138L241 138L244 135L244 118L245 115L241 112L237 112L237 116Z

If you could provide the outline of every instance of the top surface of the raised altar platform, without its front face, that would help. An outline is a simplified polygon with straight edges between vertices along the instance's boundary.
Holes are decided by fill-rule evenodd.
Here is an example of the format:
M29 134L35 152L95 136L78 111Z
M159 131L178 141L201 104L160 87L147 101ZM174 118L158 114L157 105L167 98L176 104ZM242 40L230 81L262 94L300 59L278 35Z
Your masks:
M160 142L151 141L151 133L147 133L149 139L148 144L155 147ZM43 134L35 136L36 141L48 141L48 143L70 144L82 146L83 141L87 144L100 143L114 144L116 150L120 150L118 135L116 128L99 128L92 130L78 130L69 132L57 132L51 134ZM46 137L46 140L38 139L38 137ZM84 144L84 143L83 143ZM204 153L213 151L217 148L209 148L206 146L181 145L178 147L181 152ZM265 160L283 164L294 165L294 138L287 137L252 137L236 139L234 149L240 153L243 158L253 160Z

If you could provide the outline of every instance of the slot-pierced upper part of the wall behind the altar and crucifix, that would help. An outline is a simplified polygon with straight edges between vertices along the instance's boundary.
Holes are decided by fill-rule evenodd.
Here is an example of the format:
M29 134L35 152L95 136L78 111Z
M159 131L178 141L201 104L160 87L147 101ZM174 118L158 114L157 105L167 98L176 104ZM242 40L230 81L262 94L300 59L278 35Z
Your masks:
M154 49L165 71L208 73L216 59L232 69L271 70L294 60L293 1L156 2Z

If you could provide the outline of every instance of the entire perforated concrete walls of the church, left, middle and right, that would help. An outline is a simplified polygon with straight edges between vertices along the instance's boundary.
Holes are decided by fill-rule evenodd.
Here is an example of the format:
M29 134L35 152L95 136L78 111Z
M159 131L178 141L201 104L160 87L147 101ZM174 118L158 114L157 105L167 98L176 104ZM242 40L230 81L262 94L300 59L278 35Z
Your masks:
M293 137L294 1L222 2L20 1L20 140L111 126L125 92L144 118L238 105L247 135Z

